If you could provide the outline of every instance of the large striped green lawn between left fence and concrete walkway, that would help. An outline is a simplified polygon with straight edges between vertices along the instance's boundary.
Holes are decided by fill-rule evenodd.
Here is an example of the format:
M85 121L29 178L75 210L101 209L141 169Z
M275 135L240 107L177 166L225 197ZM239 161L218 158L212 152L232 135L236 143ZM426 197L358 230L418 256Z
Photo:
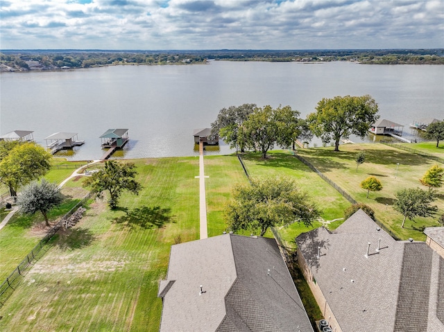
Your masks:
M158 331L170 247L198 239L198 158L135 161L138 195L90 204L0 309L1 331Z

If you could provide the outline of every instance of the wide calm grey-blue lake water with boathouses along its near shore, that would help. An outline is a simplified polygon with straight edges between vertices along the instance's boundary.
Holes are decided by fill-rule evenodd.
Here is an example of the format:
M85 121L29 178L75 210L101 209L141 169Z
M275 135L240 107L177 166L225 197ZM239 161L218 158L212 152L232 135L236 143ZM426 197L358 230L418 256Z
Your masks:
M103 155L99 136L128 128L116 157L198 155L192 132L223 107L291 105L305 118L323 97L370 94L382 119L408 125L444 118L444 66L351 62L211 62L187 66L117 66L75 71L1 73L0 133L34 130L34 139L78 132L72 160ZM230 149L221 145L219 152ZM59 154L58 154L59 155Z

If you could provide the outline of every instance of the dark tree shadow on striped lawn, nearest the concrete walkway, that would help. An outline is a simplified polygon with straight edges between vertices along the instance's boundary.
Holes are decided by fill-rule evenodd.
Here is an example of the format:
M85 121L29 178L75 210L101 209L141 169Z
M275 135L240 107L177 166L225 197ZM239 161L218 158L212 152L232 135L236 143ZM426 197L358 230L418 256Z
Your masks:
M125 211L125 209L123 209ZM133 211L125 211L126 214L113 220L114 223L133 229L136 226L144 229L160 228L165 223L170 222L173 216L170 216L170 208L162 209L156 207L138 207Z

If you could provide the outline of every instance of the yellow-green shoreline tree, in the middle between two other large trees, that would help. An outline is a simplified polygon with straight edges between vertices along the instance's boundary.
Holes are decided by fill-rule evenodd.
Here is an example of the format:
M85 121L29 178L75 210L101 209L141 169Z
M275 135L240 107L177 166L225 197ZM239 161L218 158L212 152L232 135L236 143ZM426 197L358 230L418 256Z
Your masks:
M290 147L300 134L299 114L290 106L276 109L270 105L257 107L244 122L247 146L262 152L264 159L266 152L275 144L282 148Z

